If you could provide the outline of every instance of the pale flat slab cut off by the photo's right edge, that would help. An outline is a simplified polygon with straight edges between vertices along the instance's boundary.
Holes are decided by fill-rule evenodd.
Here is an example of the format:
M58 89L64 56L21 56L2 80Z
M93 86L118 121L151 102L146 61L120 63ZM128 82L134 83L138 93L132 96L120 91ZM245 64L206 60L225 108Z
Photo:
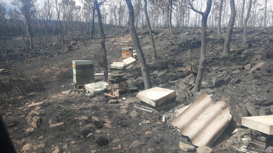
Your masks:
M273 135L273 115L242 117L242 125L268 135Z

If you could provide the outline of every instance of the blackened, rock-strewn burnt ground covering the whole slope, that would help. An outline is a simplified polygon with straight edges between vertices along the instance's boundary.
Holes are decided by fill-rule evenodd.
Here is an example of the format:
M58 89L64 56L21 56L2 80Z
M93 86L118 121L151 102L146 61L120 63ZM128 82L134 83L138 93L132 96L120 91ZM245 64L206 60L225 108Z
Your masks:
M25 51L18 51L1 55L1 68L9 70L1 74L0 113L18 152L154 152L154 153L182 153L179 141L189 144L170 122L175 118L174 110L189 104L196 95L185 94L189 90L182 90L179 85L171 81L186 77L188 74L177 72L179 67L186 67L189 63L198 63L200 52L200 30L188 29L168 35L163 29L154 30L158 60L152 61L152 48L149 34L143 30L138 32L145 58L150 66L153 85L175 89L177 105L166 108L159 113L137 111L136 117L130 113L135 109L133 104L138 101L135 94L119 99L118 104L108 104L103 100L107 97L99 94L84 96L81 94L62 95L61 91L72 89L72 60L96 60L95 55L100 52L100 39L75 40L74 45L66 42L64 45L49 45L46 49L34 49L33 57ZM238 34L238 35L236 35ZM132 46L129 33L108 35L106 38L107 58L111 62L121 61L122 47ZM231 53L222 55L224 34L218 36L214 29L208 29L208 45L204 70L203 89L210 88L215 92L214 97L221 100L231 96L233 101L242 103L248 97L256 98L256 108L260 112L266 108L272 111L272 29L251 29L249 44L241 45L242 32L235 30L232 35ZM12 39L8 40L12 43ZM190 48L190 52L189 52ZM14 50L16 50L14 48ZM261 56L260 56L261 55ZM252 70L244 70L244 65L252 64ZM95 71L102 68L95 64ZM193 66L195 67L195 66ZM162 83L157 77L159 72L166 70L167 82ZM141 81L139 64L133 64L128 70L112 70L110 73L124 74L124 78ZM211 83L213 77L226 78L225 84L215 86ZM65 87L61 87L64 85ZM78 92L79 93L79 92ZM45 101L46 100L46 101ZM32 102L41 102L41 108L28 107ZM26 116L37 109L42 119L41 125L29 130L30 125ZM235 119L245 115L245 108L231 111ZM242 113L244 112L244 113ZM246 112L247 113L247 112ZM163 123L163 114L168 115ZM248 114L246 114L248 115ZM143 120L150 120L150 124L143 124ZM49 123L50 122L50 123ZM63 125L50 127L50 124L64 122ZM141 125L140 125L141 123ZM236 123L234 123L236 124ZM226 131L211 146L213 152L237 152L241 141L248 134L248 129L239 130L230 135L234 126L230 125ZM90 134L92 133L92 134ZM89 135L89 137L87 137ZM73 142L75 141L75 143Z

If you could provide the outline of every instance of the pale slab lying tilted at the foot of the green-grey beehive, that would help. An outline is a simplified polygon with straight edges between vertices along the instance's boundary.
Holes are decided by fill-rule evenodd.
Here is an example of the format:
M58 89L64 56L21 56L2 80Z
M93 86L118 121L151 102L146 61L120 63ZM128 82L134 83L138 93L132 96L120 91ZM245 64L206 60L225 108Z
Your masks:
M92 94L98 94L104 92L108 84L105 81L98 81L95 83L85 84L84 88Z

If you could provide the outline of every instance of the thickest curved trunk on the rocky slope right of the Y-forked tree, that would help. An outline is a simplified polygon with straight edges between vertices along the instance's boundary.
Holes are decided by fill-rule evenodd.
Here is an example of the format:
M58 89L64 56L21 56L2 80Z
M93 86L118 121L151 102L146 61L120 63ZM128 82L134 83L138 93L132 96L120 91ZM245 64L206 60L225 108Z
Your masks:
M225 39L225 43L224 43L223 54L230 53L230 40L231 40L232 29L234 26L235 16L236 16L234 0L230 0L229 2L230 2L231 14L230 14L230 18L229 18L228 25L227 25L226 39Z

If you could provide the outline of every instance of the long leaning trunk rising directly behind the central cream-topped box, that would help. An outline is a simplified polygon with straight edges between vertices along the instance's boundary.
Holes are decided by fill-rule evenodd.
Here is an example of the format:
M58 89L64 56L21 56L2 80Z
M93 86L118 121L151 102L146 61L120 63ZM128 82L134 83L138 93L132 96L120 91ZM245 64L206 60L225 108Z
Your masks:
M135 23L134 23L134 20L135 20L134 19L134 8L133 8L131 0L125 0L125 1L127 3L128 11L129 11L129 19L128 19L129 32L131 34L134 47L136 48L136 51L137 51L138 61L139 61L142 75L144 78L144 86L145 86L145 89L150 89L152 87L150 72L149 72L149 67L146 64L146 60L145 60L143 51L141 49L139 39L137 37L137 31L136 31L136 27L135 27Z

